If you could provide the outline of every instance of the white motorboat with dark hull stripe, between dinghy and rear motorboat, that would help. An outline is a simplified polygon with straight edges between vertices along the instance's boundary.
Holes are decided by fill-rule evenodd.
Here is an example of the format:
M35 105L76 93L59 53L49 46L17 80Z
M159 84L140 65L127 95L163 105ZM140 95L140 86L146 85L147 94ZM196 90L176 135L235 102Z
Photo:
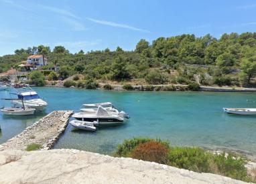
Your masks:
M95 113L79 112L74 113L72 117L80 121L98 121L99 125L115 125L123 123L124 121L123 114L111 114L106 109L101 107L101 105L98 107Z

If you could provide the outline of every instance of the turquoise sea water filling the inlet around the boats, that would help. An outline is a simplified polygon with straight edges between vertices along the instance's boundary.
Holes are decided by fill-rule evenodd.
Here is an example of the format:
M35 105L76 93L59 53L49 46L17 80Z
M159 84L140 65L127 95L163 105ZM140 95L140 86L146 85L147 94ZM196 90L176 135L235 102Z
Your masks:
M43 113L31 117L0 115L0 143L17 135L54 110L78 110L82 103L111 101L131 118L118 127L100 127L90 133L70 125L55 148L73 148L111 154L131 137L166 139L172 145L246 151L256 155L256 116L228 115L222 107L254 107L255 93L100 91L35 87L48 102ZM0 91L0 97L9 97ZM1 101L0 106L7 102Z

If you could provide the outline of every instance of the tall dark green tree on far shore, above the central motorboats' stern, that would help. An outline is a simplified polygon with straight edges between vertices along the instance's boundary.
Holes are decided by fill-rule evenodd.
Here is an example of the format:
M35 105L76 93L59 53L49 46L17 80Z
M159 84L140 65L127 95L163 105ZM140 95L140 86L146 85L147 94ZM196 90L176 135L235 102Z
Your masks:
M130 79L131 75L127 70L127 63L123 57L117 57L112 64L112 79L122 81L124 79Z

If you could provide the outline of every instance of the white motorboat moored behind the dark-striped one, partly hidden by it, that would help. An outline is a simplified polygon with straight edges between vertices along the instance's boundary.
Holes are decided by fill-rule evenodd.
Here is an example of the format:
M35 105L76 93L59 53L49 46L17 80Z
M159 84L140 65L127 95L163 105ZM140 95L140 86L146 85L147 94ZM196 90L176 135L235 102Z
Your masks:
M98 110L98 107L101 106L104 109L107 110L107 112L111 115L121 115L124 118L129 118L129 115L125 113L125 111L118 111L117 108L114 107L114 105L111 102L104 102L104 103L86 103L82 105L82 108L80 108L80 111L86 112L86 113L96 113Z

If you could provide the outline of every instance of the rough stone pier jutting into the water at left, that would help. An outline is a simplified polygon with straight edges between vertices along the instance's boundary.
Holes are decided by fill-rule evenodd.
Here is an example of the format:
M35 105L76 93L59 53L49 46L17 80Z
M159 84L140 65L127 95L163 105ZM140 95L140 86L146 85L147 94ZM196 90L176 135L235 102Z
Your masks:
M25 151L27 145L37 143L42 149L52 149L68 125L73 111L53 111L24 131L0 145L0 151L16 149Z

